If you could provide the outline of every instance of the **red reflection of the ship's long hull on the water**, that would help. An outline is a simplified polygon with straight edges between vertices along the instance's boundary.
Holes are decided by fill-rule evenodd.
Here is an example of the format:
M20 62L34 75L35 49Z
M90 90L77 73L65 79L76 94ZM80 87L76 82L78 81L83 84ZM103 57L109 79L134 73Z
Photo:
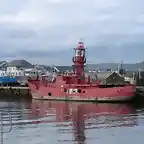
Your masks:
M55 115L53 122L66 122L72 120L72 115L80 111L85 119L95 118L95 116L109 115L119 116L135 114L136 110L126 104L92 104L92 103L68 103L68 102L48 102L33 100L31 105L31 118L39 118ZM51 122L51 121L50 121Z

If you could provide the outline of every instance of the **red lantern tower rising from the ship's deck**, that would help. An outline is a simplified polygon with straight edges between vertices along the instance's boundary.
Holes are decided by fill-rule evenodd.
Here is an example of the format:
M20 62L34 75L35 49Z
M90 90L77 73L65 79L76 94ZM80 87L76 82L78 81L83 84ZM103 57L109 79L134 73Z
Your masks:
M76 76L84 75L84 67L86 63L85 47L83 42L79 42L77 48L74 48L75 55L73 57L74 73Z

